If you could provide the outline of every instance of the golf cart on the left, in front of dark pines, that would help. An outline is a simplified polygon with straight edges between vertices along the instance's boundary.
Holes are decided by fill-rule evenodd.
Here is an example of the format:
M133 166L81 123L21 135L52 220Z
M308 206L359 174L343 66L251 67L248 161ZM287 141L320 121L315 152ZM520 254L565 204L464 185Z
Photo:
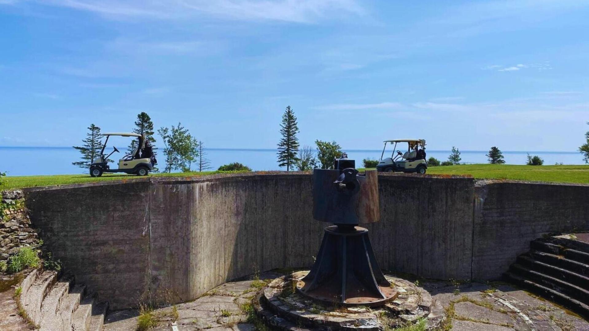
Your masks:
M151 144L144 136L138 135L137 133L124 132L102 133L102 136L106 136L107 139L104 141L104 145L102 145L100 156L97 159L94 159L90 165L90 176L100 177L103 172L125 172L129 174L135 173L139 176L146 176L151 170L153 170L153 166L157 164L153 151L151 150ZM110 166L108 166L108 158L110 158L112 153L118 153L118 149L115 146L112 146L113 151L109 155L104 156L104 149L107 146L108 138L110 138L110 136L137 137L137 148L133 153L123 156L123 158L118 161L117 169L110 169Z

